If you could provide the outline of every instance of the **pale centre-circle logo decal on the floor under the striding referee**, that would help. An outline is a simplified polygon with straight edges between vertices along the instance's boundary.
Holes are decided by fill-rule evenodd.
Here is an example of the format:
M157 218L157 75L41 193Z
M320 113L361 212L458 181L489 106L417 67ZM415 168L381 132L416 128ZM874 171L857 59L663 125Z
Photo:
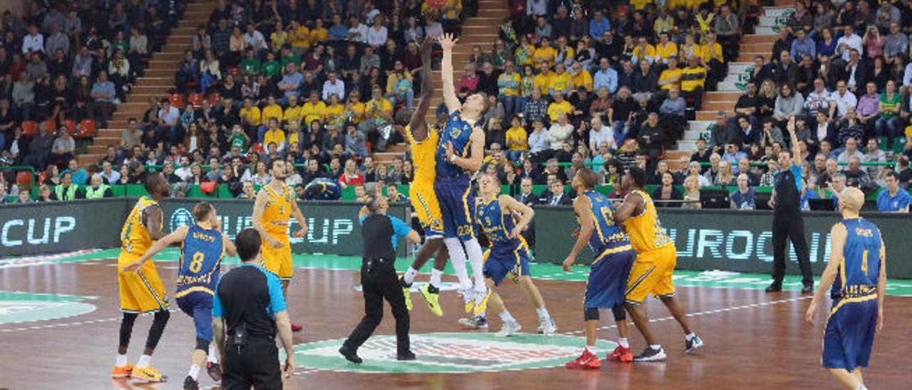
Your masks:
M352 324L354 325L354 324ZM411 350L418 359L396 360L396 336L375 335L358 349L362 364L348 363L338 353L344 339L295 345L295 364L317 370L374 374L459 374L533 370L563 366L579 355L586 339L554 334L485 333L412 334ZM614 343L599 342L610 351ZM283 358L284 359L284 358Z

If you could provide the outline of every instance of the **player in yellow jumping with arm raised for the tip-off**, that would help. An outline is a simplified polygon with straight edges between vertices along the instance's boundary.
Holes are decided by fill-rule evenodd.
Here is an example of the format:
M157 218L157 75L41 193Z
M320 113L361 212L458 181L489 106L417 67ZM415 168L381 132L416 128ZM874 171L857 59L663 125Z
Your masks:
M415 253L415 261L409 270L402 275L399 284L405 293L406 307L411 310L411 297L409 288L415 280L418 270L434 256L434 268L430 270L430 283L420 287L419 292L428 303L431 313L443 315L440 307L440 276L447 266L449 252L443 245L443 219L440 216L440 203L434 193L434 180L437 178L434 155L437 153L440 142L440 119L446 124L447 116L438 118L438 125L431 126L425 122L430 108L430 99L434 94L433 70L430 67L433 40L426 38L421 44L421 94L418 106L411 113L409 125L405 128L406 139L411 147L412 166L415 169L414 179L409 186L409 200L411 207L418 214L418 221L424 229L424 245Z

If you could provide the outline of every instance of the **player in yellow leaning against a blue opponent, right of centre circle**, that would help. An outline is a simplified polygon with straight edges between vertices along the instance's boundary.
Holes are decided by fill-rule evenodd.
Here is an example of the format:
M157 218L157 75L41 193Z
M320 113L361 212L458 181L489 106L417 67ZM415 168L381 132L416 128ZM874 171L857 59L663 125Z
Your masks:
M687 323L684 309L675 298L675 285L671 274L675 271L678 262L678 250L675 242L668 237L662 222L658 221L656 205L646 192L646 171L632 167L621 178L621 187L627 191L624 203L615 211L615 222L623 225L630 245L637 251L637 260L630 269L627 277L627 292L625 294L625 307L627 313L637 324L639 333L646 339L646 350L633 358L634 362L657 362L665 360L665 350L658 344L656 338L649 331L646 311L642 303L651 293L658 297L668 312L684 330L685 352L690 354L703 345L700 337L693 332Z

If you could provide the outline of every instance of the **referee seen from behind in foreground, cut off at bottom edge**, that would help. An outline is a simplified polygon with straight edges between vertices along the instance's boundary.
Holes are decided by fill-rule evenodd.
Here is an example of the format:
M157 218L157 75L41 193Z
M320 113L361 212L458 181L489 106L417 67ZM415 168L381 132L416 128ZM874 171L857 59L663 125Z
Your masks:
M225 390L282 389L275 333L285 346L285 377L295 372L282 282L260 263L260 233L244 229L234 245L241 266L225 273L212 299L212 333L222 353ZM223 332L227 328L227 332Z

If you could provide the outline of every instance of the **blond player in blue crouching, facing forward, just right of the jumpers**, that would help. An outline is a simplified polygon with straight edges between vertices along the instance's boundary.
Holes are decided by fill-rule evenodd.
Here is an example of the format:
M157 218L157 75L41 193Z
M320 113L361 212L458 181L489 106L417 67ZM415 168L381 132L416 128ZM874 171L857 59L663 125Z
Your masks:
M510 275L513 282L519 283L529 301L535 305L541 333L554 334L557 332L554 319L548 315L542 293L529 277L529 246L521 235L532 221L534 211L509 195L498 196L501 182L493 175L481 175L478 179L478 190L482 195L482 203L475 210L475 220L488 237L488 241L491 241L491 248L483 255L483 272L488 290L492 291L496 286L500 286L503 278ZM518 217L519 221L514 221L514 216ZM489 304L494 313L498 313L503 320L503 327L497 333L498 336L509 336L522 329L519 322L507 311L497 292L492 292Z

